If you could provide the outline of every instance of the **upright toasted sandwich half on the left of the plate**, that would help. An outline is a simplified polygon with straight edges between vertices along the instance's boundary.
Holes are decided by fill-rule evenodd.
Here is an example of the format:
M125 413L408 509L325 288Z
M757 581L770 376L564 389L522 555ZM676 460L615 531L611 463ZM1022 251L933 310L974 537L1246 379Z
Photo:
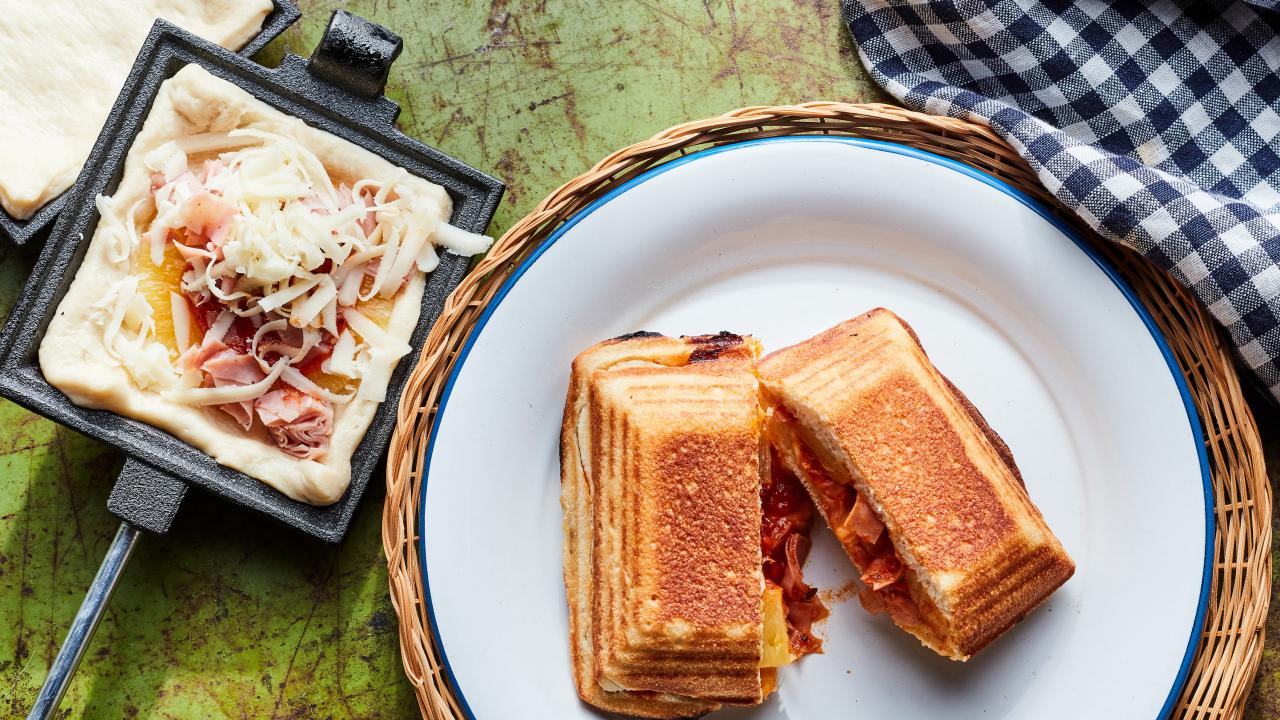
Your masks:
M564 585L575 683L602 710L689 717L755 705L774 667L817 650L806 625L786 620L791 606L801 624L820 614L812 591L788 603L765 580L762 492L773 478L758 355L750 337L636 333L573 360L561 434ZM803 512L773 507L796 520L776 544L806 547ZM803 552L792 597L808 589L799 562Z

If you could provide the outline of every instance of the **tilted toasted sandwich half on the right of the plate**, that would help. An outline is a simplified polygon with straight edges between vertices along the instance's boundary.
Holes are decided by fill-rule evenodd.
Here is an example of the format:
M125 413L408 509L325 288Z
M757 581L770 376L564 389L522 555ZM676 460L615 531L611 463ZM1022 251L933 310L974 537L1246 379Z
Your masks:
M1071 577L1012 455L876 309L758 365L765 433L861 573L863 606L968 660Z

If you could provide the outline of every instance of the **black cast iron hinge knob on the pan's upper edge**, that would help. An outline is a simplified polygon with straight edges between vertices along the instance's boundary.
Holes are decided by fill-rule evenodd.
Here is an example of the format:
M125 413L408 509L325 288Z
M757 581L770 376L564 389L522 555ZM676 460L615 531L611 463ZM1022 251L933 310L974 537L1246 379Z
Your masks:
M376 100L387 88L392 63L403 47L401 37L383 26L334 10L307 69L357 97Z

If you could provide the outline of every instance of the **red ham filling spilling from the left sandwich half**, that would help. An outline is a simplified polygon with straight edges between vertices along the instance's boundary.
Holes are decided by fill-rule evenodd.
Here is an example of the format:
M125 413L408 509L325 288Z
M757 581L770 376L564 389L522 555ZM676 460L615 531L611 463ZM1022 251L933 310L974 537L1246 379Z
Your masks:
M772 448L771 454L776 452ZM809 555L813 502L800 480L771 457L771 471L760 487L760 553L764 557L765 596L781 593L786 615L790 660L822 651L813 624L827 616L818 591L804 582Z

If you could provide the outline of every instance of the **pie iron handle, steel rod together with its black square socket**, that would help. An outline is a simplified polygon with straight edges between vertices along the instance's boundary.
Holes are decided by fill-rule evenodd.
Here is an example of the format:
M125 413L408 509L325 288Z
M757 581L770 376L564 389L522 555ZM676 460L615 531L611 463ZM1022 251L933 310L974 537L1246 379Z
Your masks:
M152 533L168 530L186 492L187 486L168 473L132 457L124 461L120 477L111 488L111 497L106 501L108 509L124 521L115 530L115 539L111 541L93 583L84 593L84 601L72 620L67 639L63 641L63 647L59 648L58 657L49 669L49 675L40 688L40 694L36 696L36 703L27 720L46 720L58 714L58 703L67 693L76 666L79 665L93 638L93 630L106 611L106 603L111 600L120 575L124 574L124 565L129 561L138 537L142 530Z

